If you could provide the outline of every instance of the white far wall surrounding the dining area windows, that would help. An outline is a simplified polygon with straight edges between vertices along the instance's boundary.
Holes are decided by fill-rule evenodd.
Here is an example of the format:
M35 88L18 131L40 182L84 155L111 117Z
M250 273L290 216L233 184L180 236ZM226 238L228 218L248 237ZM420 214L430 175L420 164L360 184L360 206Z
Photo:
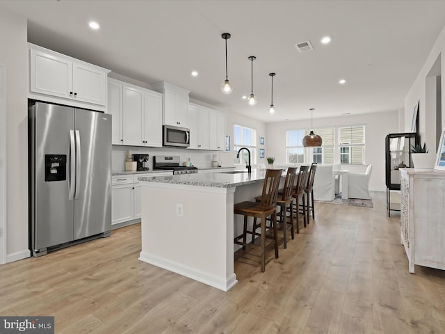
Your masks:
M340 127L349 125L365 125L365 164L372 164L373 171L369 188L384 191L385 186L385 136L399 132L398 110L385 113L369 113L357 116L340 116L314 119L314 129L324 127ZM268 153L273 155L278 164L286 162L286 131L306 129L311 120L269 123L266 126L266 143ZM336 138L337 141L337 138ZM336 161L338 163L338 161Z

